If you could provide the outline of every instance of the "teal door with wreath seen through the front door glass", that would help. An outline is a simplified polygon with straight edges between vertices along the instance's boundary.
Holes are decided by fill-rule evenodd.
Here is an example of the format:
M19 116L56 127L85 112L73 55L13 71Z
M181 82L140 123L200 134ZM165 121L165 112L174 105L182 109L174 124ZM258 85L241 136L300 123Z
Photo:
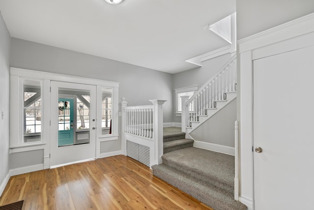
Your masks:
M58 106L58 147L73 145L74 100L59 98Z

